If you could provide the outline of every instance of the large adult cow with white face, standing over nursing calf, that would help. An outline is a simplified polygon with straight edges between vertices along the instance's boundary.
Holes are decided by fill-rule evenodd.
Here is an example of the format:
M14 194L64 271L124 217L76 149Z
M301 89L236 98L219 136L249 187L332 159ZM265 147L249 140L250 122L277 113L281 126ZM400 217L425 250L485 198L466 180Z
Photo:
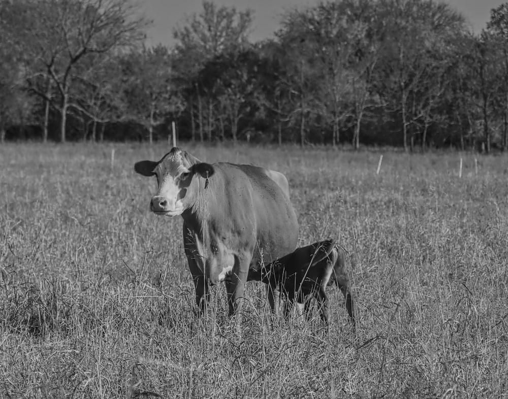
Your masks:
M140 161L137 173L157 178L150 201L156 215L183 218L183 245L202 314L209 286L226 283L229 315L241 306L247 281L261 265L292 252L298 222L285 176L253 165L201 162L173 147L159 161ZM268 290L275 311L276 292Z

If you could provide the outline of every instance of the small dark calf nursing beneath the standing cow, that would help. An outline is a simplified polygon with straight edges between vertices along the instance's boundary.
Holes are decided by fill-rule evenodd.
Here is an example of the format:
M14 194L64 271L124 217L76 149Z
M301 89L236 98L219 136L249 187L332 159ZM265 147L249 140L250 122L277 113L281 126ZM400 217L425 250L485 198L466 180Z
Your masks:
M353 299L348 287L345 270L346 253L334 240L320 241L297 248L275 262L266 264L261 271L261 281L271 290L279 290L287 297L284 315L287 318L294 303L304 304L307 319L310 318L310 300L316 298L321 319L328 326L327 285L335 283L342 291L346 310L355 328Z

